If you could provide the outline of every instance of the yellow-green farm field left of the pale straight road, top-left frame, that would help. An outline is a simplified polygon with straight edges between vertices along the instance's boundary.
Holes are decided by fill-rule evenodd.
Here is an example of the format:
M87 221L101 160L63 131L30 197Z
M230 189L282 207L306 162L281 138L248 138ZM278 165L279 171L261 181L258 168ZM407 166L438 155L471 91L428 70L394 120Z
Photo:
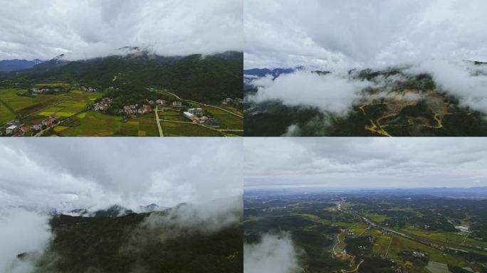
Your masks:
M159 135L155 120L143 116L121 122L122 117L88 111L76 115L75 119L80 123L78 126L58 126L55 131L64 137L157 137Z

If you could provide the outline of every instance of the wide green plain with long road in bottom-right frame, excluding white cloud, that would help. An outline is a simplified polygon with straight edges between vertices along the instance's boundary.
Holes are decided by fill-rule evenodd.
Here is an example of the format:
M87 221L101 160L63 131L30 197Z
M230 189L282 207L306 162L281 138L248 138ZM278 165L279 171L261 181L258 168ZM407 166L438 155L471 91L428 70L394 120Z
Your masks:
M487 272L486 199L248 193L244 202L246 242L288 232L303 272Z

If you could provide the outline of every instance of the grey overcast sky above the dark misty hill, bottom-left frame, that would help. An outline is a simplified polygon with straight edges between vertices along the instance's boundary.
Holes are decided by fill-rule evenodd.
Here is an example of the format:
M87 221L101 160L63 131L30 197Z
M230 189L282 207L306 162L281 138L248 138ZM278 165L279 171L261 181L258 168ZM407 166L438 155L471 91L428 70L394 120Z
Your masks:
M137 209L242 193L241 139L1 139L0 208Z

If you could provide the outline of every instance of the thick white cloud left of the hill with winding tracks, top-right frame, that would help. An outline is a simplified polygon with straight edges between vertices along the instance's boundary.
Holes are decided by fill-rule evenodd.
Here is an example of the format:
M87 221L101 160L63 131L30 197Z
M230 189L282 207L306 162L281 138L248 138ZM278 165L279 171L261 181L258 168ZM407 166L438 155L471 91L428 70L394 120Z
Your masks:
M253 84L258 86L258 92L248 99L255 102L281 100L285 105L310 105L344 114L361 97L360 91L371 83L350 80L340 73L321 76L297 71L281 75L276 80L264 77L254 80Z

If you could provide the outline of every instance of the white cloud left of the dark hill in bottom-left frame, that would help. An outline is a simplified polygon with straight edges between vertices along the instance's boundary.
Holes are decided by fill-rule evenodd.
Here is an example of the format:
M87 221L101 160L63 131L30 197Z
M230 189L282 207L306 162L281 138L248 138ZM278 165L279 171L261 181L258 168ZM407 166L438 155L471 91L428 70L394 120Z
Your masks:
M41 252L51 238L48 217L19 208L0 210L0 272L28 273L33 264L21 261L23 252Z

